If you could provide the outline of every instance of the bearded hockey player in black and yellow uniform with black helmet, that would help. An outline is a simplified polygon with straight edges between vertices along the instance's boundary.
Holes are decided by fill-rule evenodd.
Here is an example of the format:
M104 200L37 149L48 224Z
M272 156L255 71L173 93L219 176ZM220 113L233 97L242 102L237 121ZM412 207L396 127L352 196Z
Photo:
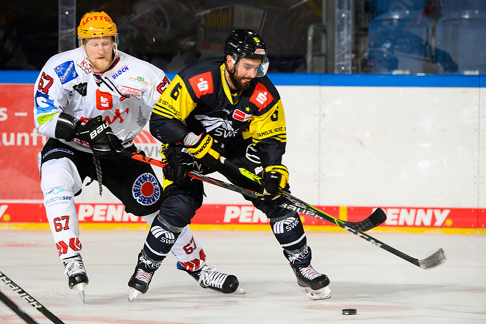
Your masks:
M265 75L267 68L267 48L260 35L237 29L226 39L224 57L207 58L180 71L155 104L150 132L167 143L163 157L169 165L164 168L165 199L129 281L132 300L149 284L138 280L137 272L152 277L203 203L203 183L187 177L192 168L218 171L238 186L264 190L268 198L246 199L270 219L298 284L312 300L331 297L329 278L310 265L311 249L299 214L278 204L276 193L288 188L289 181L282 165L287 135L284 107ZM226 168L220 155L260 175L265 188Z

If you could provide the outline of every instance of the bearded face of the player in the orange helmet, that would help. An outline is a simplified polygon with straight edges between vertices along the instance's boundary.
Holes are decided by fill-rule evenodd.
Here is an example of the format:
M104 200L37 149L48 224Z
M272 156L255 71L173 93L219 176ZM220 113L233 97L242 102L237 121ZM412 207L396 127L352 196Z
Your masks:
M95 72L104 72L113 63L114 42L111 36L88 38L83 46Z

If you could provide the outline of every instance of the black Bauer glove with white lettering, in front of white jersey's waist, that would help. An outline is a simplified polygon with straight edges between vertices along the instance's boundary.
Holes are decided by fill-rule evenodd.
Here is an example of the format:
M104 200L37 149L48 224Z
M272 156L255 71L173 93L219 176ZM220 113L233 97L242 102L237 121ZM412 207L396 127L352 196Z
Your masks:
M79 127L76 138L90 144L91 150L96 157L120 159L121 145L120 140L106 124L101 116L90 119L88 123Z

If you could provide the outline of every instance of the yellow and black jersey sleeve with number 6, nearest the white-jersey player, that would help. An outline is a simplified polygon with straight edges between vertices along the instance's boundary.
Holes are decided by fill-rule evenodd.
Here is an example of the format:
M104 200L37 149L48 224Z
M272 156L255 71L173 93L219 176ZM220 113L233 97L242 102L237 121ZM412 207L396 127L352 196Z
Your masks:
M153 107L150 133L162 143L176 144L189 133L183 120L195 107L196 103L177 74Z

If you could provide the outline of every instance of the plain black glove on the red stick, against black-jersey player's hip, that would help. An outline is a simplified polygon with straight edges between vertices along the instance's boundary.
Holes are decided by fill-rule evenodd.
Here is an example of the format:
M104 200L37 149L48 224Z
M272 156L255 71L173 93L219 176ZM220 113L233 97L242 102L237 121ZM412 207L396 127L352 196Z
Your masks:
M164 150L165 160L168 163L162 169L164 178L176 183L188 183L190 178L187 177L187 172L192 171L192 164L194 157L182 146L167 146Z

